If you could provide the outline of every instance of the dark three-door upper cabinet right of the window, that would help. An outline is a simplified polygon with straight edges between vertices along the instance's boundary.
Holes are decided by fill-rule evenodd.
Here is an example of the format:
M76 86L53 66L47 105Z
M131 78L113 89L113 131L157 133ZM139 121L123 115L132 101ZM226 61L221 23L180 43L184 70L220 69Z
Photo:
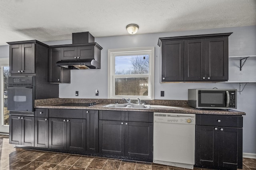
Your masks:
M229 35L159 38L161 82L227 81Z

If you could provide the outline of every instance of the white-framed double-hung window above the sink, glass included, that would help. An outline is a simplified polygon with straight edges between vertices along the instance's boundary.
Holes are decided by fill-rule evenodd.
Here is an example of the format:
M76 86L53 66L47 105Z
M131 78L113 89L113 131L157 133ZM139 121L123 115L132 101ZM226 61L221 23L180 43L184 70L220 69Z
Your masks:
M108 98L154 99L154 47L108 50Z

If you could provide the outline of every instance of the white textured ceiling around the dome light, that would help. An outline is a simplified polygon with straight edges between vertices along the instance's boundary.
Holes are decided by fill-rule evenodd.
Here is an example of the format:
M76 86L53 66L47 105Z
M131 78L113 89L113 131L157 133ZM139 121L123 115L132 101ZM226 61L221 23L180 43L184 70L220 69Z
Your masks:
M256 25L256 0L0 0L0 45ZM132 35L131 35L132 36Z

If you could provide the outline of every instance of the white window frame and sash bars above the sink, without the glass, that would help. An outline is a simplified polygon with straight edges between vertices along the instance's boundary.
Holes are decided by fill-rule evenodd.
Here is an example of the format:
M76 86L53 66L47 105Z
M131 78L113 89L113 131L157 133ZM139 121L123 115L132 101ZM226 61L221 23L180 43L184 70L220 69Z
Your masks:
M115 74L116 56L127 55L149 55L149 73L148 74ZM143 99L154 100L154 47L140 48L123 48L123 49L108 49L108 98L109 99ZM145 76L147 75L147 76ZM115 95L115 78L139 78L148 77L148 96L117 96Z

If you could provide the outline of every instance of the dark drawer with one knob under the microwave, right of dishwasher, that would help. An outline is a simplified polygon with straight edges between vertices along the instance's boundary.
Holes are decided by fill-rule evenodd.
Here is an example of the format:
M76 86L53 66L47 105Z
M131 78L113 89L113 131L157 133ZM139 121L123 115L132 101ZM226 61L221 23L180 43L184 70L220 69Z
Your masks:
M196 115L196 125L243 127L243 117L231 115Z

